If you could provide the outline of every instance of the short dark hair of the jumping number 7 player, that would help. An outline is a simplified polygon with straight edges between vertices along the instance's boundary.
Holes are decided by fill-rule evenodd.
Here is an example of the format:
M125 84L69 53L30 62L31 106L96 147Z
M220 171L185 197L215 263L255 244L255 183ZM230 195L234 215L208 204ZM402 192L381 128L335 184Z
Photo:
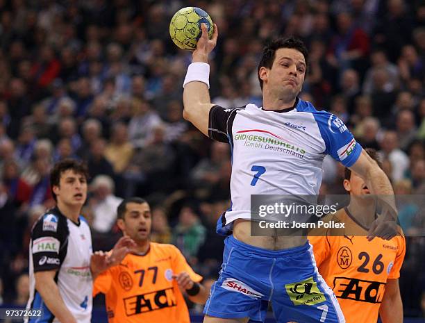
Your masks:
M292 48L297 49L301 52L306 60L306 68L308 65L308 50L306 45L298 38L277 38L272 40L263 49L263 56L261 57L260 63L257 68L258 81L260 81L261 90L263 90L263 80L260 78L260 68L267 67L271 69L273 66L274 58L276 57L276 51L281 48Z

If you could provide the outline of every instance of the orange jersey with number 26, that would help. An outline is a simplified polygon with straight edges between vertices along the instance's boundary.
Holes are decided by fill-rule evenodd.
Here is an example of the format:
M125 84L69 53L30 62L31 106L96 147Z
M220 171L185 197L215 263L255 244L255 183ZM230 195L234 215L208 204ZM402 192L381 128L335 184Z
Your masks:
M348 210L333 216L359 235L309 235L319 274L332 288L347 323L376 323L387 279L397 279L406 254L403 236L368 241L367 230L353 220ZM332 232L335 234L335 231Z

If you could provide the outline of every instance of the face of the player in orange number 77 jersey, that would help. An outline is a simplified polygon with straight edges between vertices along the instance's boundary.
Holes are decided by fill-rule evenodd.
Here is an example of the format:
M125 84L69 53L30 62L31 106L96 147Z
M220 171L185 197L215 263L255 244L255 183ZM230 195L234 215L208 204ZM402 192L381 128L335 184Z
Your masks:
M152 225L149 204L128 203L126 205L124 221L120 221L118 225L126 235L136 242L147 240L151 233Z

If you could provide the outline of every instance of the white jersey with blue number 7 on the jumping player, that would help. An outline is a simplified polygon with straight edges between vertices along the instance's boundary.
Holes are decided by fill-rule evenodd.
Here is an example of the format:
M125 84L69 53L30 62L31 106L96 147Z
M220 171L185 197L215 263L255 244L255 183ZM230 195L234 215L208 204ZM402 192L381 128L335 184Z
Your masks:
M300 99L280 111L213 106L208 134L232 151L232 204L217 224L222 234L234 220L250 220L251 194L318 194L324 156L349 167L362 150L338 117Z

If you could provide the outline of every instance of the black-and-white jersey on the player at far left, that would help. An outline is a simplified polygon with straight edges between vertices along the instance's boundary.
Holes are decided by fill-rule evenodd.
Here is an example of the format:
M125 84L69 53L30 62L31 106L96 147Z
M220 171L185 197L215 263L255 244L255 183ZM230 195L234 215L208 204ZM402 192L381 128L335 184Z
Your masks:
M60 213L49 210L34 224L30 241L30 299L27 308L44 310L44 317L33 322L59 322L35 290L34 272L58 270L55 281L60 296L78 323L90 323L93 279L90 272L92 235L83 217L78 224Z

